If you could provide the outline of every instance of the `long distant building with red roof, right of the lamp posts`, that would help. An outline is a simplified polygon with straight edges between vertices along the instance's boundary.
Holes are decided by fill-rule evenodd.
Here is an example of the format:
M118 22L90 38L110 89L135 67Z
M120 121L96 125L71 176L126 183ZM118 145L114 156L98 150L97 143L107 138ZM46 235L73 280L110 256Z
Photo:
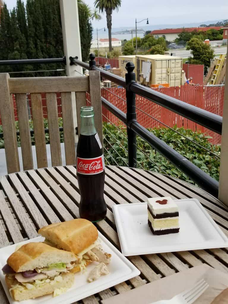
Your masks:
M217 31L219 29L223 28L222 26L209 26L209 27L181 27L178 29L155 29L154 31L151 32L152 35L154 35L154 37L164 37L165 40L168 41L174 41L177 37L178 34L180 34L181 32L183 32L183 30L185 30L185 32L193 32L193 31L207 31L209 29L216 29Z

